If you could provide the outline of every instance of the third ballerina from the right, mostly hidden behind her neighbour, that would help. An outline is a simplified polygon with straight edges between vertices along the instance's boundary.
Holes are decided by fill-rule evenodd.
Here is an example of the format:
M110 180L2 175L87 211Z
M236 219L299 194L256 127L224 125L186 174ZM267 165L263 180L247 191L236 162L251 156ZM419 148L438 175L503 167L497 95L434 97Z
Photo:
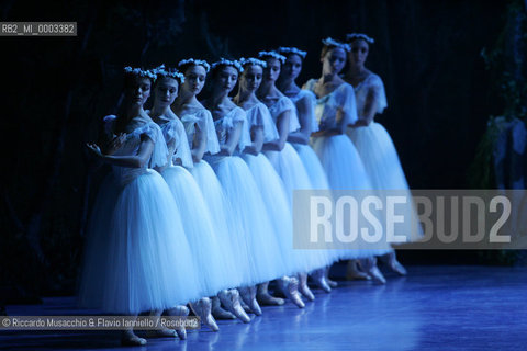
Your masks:
M300 89L295 80L302 71L302 61L306 56L306 52L300 50L296 47L280 47L278 53L285 57L285 61L280 70L280 77L277 81L278 89L296 106L296 115L300 122L300 129L289 135L290 141L302 160L302 163L307 171L313 189L327 190L329 184L327 182L326 173L321 165L318 157L313 148L310 146L310 137L312 133L318 131L318 124L315 118L316 97L313 92ZM335 250L327 251L327 254L334 261L338 261L338 252ZM329 280L329 268L324 269L325 276L330 287L336 287L337 282Z

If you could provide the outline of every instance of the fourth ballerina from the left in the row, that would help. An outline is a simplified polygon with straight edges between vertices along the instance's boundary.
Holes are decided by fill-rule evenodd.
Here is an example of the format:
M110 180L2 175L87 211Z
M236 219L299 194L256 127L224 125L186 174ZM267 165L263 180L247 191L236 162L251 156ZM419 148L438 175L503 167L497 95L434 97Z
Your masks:
M281 254L278 234L273 230L273 218L269 217L253 173L242 158L233 155L236 149L243 151L251 143L244 109L228 98L242 70L239 63L233 60L222 59L213 65L213 91L203 104L213 114L222 152L208 157L208 160L243 228L236 233L238 238L233 237L233 240L248 249L253 282L261 284L284 275L288 267Z

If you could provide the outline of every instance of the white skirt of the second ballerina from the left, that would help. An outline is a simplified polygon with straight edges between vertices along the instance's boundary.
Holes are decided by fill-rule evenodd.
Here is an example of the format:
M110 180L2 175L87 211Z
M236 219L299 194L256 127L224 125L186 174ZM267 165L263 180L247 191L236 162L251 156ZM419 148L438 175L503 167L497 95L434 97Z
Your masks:
M184 233L194 259L198 279L204 296L213 296L224 288L240 284L240 275L229 248L225 248L226 233L218 234L211 212L192 174L181 166L168 167L161 173L183 218ZM221 240L223 239L223 240Z

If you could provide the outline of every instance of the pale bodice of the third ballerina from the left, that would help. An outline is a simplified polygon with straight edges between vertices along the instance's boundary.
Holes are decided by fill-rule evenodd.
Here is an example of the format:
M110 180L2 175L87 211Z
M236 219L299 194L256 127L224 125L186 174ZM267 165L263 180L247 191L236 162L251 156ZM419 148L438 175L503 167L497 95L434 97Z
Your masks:
M190 112L187 112L184 115L180 115L180 118L187 133L187 139L189 141L190 149L192 149L195 126L198 126L200 131L205 134L205 152L210 152L212 155L220 151L220 144L214 129L214 121L212 121L212 115L209 110L203 106L197 106Z

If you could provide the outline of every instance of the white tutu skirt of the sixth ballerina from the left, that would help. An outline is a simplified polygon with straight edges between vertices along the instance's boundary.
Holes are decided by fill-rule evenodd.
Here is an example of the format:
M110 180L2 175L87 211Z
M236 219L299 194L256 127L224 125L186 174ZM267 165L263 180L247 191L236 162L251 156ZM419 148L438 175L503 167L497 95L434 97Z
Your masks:
M280 176L285 188L289 206L292 208L294 190L313 189L302 160L289 143L285 143L281 151L266 151L266 156ZM295 258L300 260L299 267L301 270L299 272L310 272L329 265L335 261L335 254L325 249L295 249Z

